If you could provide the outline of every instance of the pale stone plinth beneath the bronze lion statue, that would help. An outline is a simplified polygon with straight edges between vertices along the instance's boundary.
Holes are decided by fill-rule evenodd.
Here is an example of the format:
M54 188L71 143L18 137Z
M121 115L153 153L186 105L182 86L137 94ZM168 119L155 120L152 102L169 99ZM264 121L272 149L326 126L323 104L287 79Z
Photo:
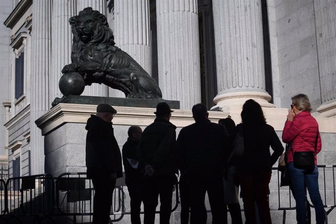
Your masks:
M36 124L45 137L46 173L58 176L63 172L86 172L85 125L91 114L95 114L96 106L96 104L59 103L37 119ZM113 107L118 112L112 122L120 149L127 140L127 131L131 125L139 125L145 129L155 119L155 108L114 105ZM228 114L222 111L209 112L209 118L213 122L218 122L227 116ZM177 132L194 122L191 111L179 109L174 109L170 121L178 127Z

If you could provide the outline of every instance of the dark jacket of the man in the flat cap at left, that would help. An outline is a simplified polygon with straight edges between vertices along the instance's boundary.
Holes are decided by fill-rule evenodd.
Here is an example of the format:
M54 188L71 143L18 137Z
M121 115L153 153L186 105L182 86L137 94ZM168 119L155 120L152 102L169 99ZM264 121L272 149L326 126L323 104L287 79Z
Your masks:
M112 122L91 115L85 129L86 135L86 167L88 177L95 172L103 174L116 173L122 177L122 162L118 143L114 138Z

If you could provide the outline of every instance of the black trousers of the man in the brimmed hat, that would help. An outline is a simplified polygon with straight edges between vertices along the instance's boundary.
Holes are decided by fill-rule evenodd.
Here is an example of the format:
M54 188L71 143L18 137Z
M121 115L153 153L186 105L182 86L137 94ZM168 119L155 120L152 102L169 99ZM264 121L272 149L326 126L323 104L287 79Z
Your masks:
M175 174L148 177L144 180L144 224L154 224L160 195L160 224L169 224Z

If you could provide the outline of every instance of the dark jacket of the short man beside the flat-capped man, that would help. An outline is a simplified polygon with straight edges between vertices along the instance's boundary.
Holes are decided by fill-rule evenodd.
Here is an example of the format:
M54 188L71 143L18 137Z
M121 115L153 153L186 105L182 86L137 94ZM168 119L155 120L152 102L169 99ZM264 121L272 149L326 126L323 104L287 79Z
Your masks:
M124 163L124 169L125 169L126 184L130 181L140 181L142 178L140 169L133 168L130 161L128 160L129 158L129 159L135 159L139 161L139 158L137 156L138 145L139 145L139 142L132 141L131 138L128 138L122 149L122 157L123 157L123 163Z

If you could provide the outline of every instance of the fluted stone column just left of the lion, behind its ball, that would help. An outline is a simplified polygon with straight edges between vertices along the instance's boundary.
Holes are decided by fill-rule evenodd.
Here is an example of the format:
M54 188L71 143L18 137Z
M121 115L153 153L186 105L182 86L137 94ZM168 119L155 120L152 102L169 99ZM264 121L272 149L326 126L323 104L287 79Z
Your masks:
M61 70L71 63L72 33L69 18L76 15L76 0L53 1L52 17L52 65L50 102L62 97L58 82Z

